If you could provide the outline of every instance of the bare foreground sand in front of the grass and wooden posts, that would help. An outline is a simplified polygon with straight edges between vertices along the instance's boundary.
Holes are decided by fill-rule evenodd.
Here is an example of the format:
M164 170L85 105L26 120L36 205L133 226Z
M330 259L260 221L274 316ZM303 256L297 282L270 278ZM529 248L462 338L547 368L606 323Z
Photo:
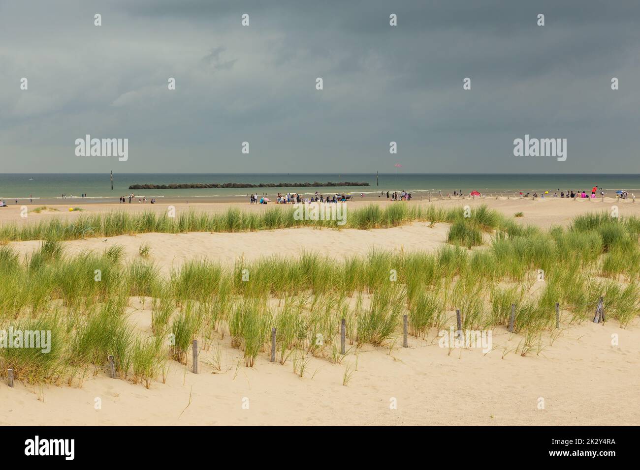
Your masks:
M134 312L148 323L150 311ZM301 378L291 361L269 363L267 354L246 368L227 336L214 340L221 343L220 371L211 365L211 347L200 352L200 373L190 372L190 358L187 367L171 363L166 383L150 389L102 370L81 386L2 384L0 425L637 425L637 326L563 324L552 346L543 335L539 355L504 358L504 347L514 350L522 339L504 329L494 332L486 355L449 354L431 331L428 341L410 337L408 349L397 347L401 341L392 350L365 347L348 386L342 380L346 366L355 367L353 354L342 364L313 358ZM620 346L611 346L611 334ZM393 398L397 409L390 409Z

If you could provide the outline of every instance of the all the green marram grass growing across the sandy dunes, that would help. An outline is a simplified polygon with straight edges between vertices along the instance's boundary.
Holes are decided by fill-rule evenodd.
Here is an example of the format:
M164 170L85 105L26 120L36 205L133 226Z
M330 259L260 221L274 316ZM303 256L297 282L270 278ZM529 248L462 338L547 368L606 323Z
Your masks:
M458 211L393 207L365 208L355 223L373 228L424 217L471 226L492 240L473 251L447 244L435 253L378 249L345 260L304 253L240 259L229 268L200 258L183 263L168 278L143 257L125 262L118 246L68 255L60 241L65 237L51 236L24 259L10 245L0 246L0 329L52 333L51 354L0 349L0 375L13 368L17 380L71 383L86 373L106 372L111 355L118 377L149 387L165 361L186 364L192 341L210 338L214 331L221 338L228 334L244 364L256 366L260 355L268 358L276 327L276 361L285 364L300 356L300 365L310 356L342 361L342 318L348 344L357 349L392 344L401 334L403 315L408 315L409 333L425 338L430 329L453 325L456 309L463 328L492 329L508 325L515 304L515 333L529 336L554 329L556 302L563 322L593 318L600 296L607 320L623 327L640 313L636 219L582 216L568 229L540 231L503 224L484 211L465 218ZM246 219L229 212L215 219L216 228L244 230L248 220L252 230L259 230L285 224L282 214L269 212L264 220L266 212ZM95 233L88 223L92 217L67 233ZM170 228L164 219L145 217L110 215L109 233L140 231L141 224ZM172 224L175 230L192 230L211 222L208 215L193 214ZM127 314L136 297L150 298L145 333L133 328Z

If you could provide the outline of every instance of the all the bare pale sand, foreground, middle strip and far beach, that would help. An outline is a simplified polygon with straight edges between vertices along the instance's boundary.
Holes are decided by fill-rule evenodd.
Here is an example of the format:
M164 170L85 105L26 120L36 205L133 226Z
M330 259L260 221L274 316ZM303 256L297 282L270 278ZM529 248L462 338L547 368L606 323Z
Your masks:
M400 204L404 202L398 202ZM364 205L354 201L349 208ZM382 201L381 204L390 204ZM426 204L412 201L409 204ZM630 200L442 200L442 207L488 205L513 216L518 224L543 229L566 225L587 212L611 210L640 215L640 204ZM19 207L0 209L0 224L33 223L52 217L82 217L94 212L127 210L164 212L167 205L74 205L83 212L29 213ZM241 210L264 206L237 204ZM268 207L273 207L268 205ZM176 205L176 210L224 211L228 204ZM223 265L237 259L264 256L298 257L319 253L335 259L365 256L371 249L436 251L446 244L449 224L413 223L374 230L291 228L246 233L144 233L65 242L70 254L124 247L125 260L138 257L141 244L163 275L186 260L205 256ZM38 248L36 240L10 242L21 257ZM150 301L131 299L127 311L136 330L150 330ZM454 315L452 311L447 315ZM2 425L637 425L640 423L640 329L638 318L626 328L616 321L604 325L570 324L562 312L561 332L544 333L531 354L514 354L522 336L504 328L493 331L492 350L438 347L438 332L426 340L401 334L380 347L365 345L347 354L340 364L309 357L300 377L292 363L270 363L262 352L254 367L244 366L242 353L229 336L214 334L200 351L198 374L169 361L164 380L149 389L141 384L108 377L102 369L89 370L70 384L0 384ZM618 343L612 345L612 335ZM345 368L353 369L348 386ZM95 409L97 400L100 409ZM540 409L540 400L543 409ZM393 403L397 403L394 409ZM390 407L390 405L392 405Z

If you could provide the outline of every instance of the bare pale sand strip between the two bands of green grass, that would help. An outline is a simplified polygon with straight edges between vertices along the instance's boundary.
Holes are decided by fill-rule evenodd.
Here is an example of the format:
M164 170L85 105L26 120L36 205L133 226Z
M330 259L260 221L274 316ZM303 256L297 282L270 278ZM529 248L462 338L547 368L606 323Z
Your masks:
M255 260L262 256L298 256L301 253L319 253L336 259L365 256L372 249L406 251L433 251L447 238L448 224L426 223L374 229L314 229L287 228L243 233L141 233L100 239L71 240L65 242L69 255L83 250L103 250L121 245L129 259L139 257L141 244L151 249L149 259L168 272L179 267L184 260L205 256L230 265L237 259ZM22 255L38 248L40 242L12 242Z

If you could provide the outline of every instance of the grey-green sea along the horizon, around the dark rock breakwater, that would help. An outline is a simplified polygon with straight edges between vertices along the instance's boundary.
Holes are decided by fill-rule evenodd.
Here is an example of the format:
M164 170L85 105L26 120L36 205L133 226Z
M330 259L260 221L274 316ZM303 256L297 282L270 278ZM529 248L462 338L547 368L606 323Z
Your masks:
M172 183L305 183L305 182L368 182L369 186L345 187L278 187L224 189L141 189L131 190L134 184ZM461 191L505 196L517 192L587 191L598 186L607 195L618 190L640 191L640 175L507 175L507 174L434 174L434 173L114 173L113 189L109 173L3 173L0 174L0 200L80 198L84 202L109 202L131 193L147 198L244 198L251 192L271 196L278 192L300 194L351 193L375 195L381 192L408 191L417 195L442 192L443 195Z

